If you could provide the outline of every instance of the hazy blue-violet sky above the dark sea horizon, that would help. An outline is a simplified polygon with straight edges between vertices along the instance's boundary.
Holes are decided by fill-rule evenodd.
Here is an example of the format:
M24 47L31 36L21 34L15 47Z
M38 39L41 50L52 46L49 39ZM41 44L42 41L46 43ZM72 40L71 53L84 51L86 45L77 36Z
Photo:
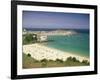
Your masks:
M23 28L89 29L89 14L23 11Z

